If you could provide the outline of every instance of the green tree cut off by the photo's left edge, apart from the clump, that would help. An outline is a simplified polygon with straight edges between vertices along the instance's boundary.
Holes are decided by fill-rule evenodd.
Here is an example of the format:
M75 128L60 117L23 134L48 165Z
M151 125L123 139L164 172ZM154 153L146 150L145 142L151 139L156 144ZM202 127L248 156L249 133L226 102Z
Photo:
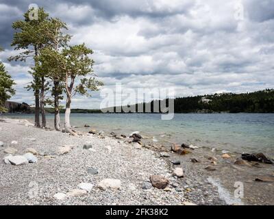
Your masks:
M0 112L7 111L7 109L5 109L5 101L15 94L15 90L12 88L14 84L12 77L8 75L8 72L5 70L5 66L0 62Z

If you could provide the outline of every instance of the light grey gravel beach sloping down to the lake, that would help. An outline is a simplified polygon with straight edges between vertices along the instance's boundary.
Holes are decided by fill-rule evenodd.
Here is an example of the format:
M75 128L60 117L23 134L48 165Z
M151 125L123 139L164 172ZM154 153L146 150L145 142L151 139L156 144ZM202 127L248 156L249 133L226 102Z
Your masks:
M16 149L23 155L27 148L38 151L38 162L14 166L0 164L0 205L184 205L184 192L176 189L177 178L157 153L105 136L69 136L67 133L37 129L25 121L2 120L0 147ZM83 149L84 144L92 145ZM60 154L60 146L69 146ZM170 183L165 190L142 188L151 175L162 175ZM121 188L101 190L103 179L118 179ZM70 195L79 183L92 184L90 192ZM150 183L148 183L150 184ZM151 185L151 184L150 184ZM83 191L83 190L82 190ZM74 191L75 192L75 191ZM76 191L76 193L79 191ZM55 194L64 198L55 198ZM61 195L61 196L62 196ZM187 202L186 202L187 201Z

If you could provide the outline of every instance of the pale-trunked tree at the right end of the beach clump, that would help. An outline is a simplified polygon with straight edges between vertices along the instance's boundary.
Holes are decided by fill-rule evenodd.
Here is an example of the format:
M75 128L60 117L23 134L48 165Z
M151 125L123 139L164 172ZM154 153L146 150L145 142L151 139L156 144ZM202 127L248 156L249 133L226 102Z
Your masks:
M66 111L64 127L69 133L76 135L71 130L70 115L71 101L75 94L90 96L89 91L99 90L103 86L101 81L95 79L93 73L94 61L89 57L93 51L85 44L75 45L66 48L58 55L56 61L64 73L64 88L66 93Z

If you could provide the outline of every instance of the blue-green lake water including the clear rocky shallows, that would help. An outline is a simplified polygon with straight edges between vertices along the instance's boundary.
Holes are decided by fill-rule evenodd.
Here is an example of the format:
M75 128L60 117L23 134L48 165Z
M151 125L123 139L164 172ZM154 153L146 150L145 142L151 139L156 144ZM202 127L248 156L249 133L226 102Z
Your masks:
M33 114L2 116L34 120ZM61 119L63 123L64 114ZM75 130L86 133L90 129L97 129L129 136L133 131L140 131L141 136L147 137L142 140L145 144L168 148L172 142L199 146L200 149L195 149L190 155L170 154L171 159L180 159L184 164L187 172L184 181L192 179L192 182L199 183L207 179L215 180L213 184L219 188L219 194L225 196L225 200L231 199L234 183L239 181L245 187L243 203L274 205L273 183L254 181L258 176L274 176L274 165L234 165L234 160L242 152L262 152L274 159L274 114L175 114L173 120L161 120L160 114L71 114L71 125L77 126ZM85 128L84 125L90 127ZM53 114L47 114L47 126L53 127ZM213 148L216 150L213 151ZM221 159L222 150L230 151L232 159ZM207 159L210 156L218 157L217 170L213 172L205 170L210 164ZM196 157L201 162L192 164L190 157ZM203 196L203 192L201 194Z

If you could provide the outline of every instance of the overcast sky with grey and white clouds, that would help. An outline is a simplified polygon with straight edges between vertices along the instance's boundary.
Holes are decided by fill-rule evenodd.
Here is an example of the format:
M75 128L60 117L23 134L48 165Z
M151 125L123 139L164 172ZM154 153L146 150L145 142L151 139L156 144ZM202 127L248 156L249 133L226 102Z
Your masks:
M10 47L12 22L31 3L67 23L71 44L94 51L105 89L121 83L193 96L274 88L274 0L0 0L0 60L16 82L12 101L34 103L24 88L31 60L7 60L18 53ZM98 108L102 99L100 92L75 96L72 107Z

